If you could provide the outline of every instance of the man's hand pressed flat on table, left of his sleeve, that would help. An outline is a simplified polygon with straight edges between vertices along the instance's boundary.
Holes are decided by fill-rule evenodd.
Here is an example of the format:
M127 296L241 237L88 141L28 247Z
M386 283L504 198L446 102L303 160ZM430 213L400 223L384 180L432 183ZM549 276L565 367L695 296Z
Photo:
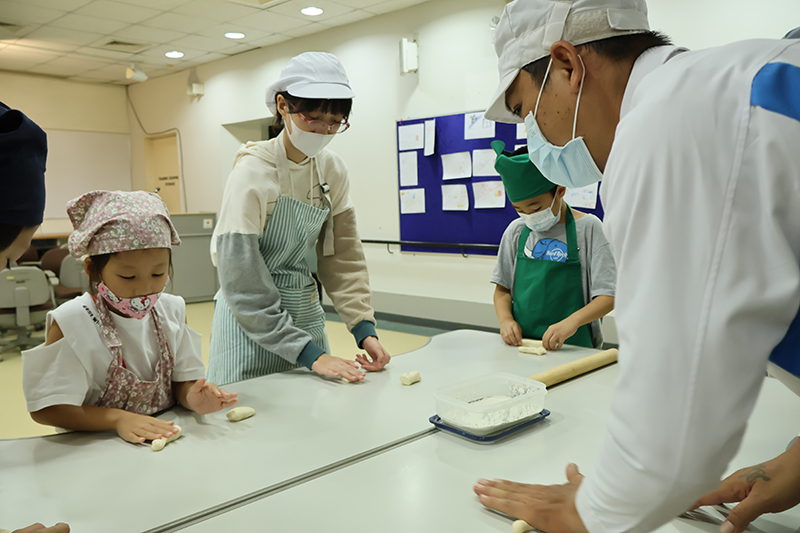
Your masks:
M564 485L526 485L511 481L481 479L473 490L481 503L547 533L587 533L575 494L583 481L575 464L567 466Z

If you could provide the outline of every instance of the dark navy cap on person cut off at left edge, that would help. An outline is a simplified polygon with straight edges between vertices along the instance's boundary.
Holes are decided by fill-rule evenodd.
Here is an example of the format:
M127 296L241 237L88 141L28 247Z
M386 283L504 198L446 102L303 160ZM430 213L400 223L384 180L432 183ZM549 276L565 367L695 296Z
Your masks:
M44 217L47 134L0 102L0 223L32 227Z

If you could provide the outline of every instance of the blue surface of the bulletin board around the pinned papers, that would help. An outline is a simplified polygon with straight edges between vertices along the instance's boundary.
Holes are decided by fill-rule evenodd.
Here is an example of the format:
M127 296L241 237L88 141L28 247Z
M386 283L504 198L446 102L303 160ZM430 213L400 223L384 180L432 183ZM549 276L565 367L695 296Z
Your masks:
M398 180L400 195L403 191L414 191L424 189L424 212L403 213L403 198L400 211L400 240L419 241L432 243L467 243L467 244L494 244L499 245L503 232L511 221L518 218L517 212L507 198L502 202L502 207L476 209L475 193L473 183L482 181L500 181L499 176L470 176L459 179L443 179L442 156L460 152L469 152L472 157L474 150L491 149L491 142L495 139L504 141L506 150L514 151L515 146L527 143L525 138L517 138L517 125L505 124L502 122L494 123L494 136L490 138L465 138L465 115L469 119L474 117L473 113L459 113L456 115L446 115L414 120L402 120L397 122L398 134ZM425 124L426 121L435 119L435 141L433 153L424 155L422 146L409 150L406 138L405 144L401 140L401 133L409 131L401 130L403 126L415 124ZM483 120L483 119L481 119ZM484 123L486 124L486 123ZM406 149L402 149L406 148ZM408 180L403 182L401 175L401 157L409 156L409 152L416 152L416 177L417 183L409 184ZM402 156L402 154L406 154ZM408 159L406 159L407 161ZM406 174L408 176L408 174ZM446 211L442 205L442 185L466 185L468 202L466 210ZM405 193L406 195L409 192ZM414 192L414 194L419 194ZM406 197L406 200L408 196ZM418 207L416 211L421 208ZM597 198L595 209L578 208L580 211L592 213L599 218L603 218L603 207L600 198ZM408 211L409 208L406 207ZM414 210L414 209L412 209ZM437 252L437 253L461 253L458 248L436 248L404 245L403 251L408 252ZM494 250L470 249L465 251L471 254L496 255Z

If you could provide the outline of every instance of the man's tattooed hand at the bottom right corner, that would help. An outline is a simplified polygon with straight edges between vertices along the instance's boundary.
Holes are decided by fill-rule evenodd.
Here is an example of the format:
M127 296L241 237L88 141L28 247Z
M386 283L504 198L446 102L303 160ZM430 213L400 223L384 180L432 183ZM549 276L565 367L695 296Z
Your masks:
M800 441L771 461L734 472L692 508L734 502L741 503L720 526L722 533L740 533L764 513L780 513L800 504Z

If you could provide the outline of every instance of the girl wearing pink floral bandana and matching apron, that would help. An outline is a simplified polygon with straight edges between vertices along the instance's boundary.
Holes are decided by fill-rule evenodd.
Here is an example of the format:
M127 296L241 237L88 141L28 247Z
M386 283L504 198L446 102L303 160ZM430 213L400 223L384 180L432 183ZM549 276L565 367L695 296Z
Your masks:
M180 239L161 198L94 191L67 212L70 252L88 256L91 294L49 313L46 343L23 353L31 417L141 443L174 433L150 415L176 401L200 414L234 405L236 394L205 379L183 299L164 293Z

